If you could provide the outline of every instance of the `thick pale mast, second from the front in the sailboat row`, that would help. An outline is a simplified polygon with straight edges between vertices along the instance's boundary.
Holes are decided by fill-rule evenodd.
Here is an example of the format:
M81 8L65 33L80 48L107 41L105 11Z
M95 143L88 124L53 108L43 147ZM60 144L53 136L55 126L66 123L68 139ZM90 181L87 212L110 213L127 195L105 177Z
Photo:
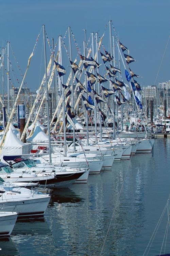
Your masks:
M63 58L62 58L62 36L59 36L59 45L60 45L60 64L63 65ZM62 84L63 84L63 76L62 78ZM60 78L58 79L60 81ZM62 88L62 101L63 101L63 133L64 133L64 156L67 156L67 148L66 148L66 114L65 114L65 97L64 97L64 88Z

